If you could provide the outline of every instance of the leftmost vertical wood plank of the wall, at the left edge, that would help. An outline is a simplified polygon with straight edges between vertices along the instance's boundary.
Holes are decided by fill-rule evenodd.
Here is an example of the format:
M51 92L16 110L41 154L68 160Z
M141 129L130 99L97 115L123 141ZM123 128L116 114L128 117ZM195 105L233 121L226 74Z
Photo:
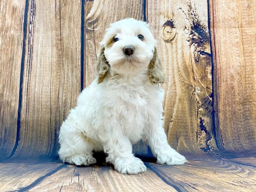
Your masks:
M25 0L0 0L0 160L15 145Z

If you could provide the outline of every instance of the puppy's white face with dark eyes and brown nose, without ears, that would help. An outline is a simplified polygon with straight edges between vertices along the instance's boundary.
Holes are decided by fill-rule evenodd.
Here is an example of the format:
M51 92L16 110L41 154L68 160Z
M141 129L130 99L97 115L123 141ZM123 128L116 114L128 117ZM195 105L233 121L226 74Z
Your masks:
M139 73L153 58L154 38L143 21L125 19L111 24L102 45L105 57L116 73Z

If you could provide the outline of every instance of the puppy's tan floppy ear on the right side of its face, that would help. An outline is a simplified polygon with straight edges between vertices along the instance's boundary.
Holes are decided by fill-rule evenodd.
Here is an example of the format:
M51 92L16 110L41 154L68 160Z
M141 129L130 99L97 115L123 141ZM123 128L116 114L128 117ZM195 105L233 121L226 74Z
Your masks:
M165 75L157 55L157 48L154 48L154 55L148 65L148 77L151 84L159 84L165 82Z

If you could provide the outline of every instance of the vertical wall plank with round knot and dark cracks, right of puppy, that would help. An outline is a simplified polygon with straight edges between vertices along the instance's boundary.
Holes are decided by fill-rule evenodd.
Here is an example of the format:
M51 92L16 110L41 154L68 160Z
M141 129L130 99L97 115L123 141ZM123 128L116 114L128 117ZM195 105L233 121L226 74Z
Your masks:
M164 118L169 144L212 152L212 74L206 0L150 0L147 20L165 68Z

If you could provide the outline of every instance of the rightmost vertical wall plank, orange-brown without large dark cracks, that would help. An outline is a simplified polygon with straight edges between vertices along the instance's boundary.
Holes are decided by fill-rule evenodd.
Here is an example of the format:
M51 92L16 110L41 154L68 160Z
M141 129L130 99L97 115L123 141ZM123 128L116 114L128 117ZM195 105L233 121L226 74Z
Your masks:
M220 147L256 151L256 2L210 0Z

